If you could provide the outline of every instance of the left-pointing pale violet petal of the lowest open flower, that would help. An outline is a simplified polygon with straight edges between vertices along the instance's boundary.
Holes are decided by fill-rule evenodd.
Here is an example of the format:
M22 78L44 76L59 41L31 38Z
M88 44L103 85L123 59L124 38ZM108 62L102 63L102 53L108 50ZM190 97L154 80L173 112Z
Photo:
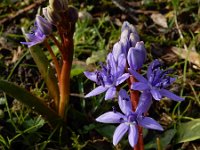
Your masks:
M120 123L121 118L124 118L124 115L121 113L109 111L96 118L96 121L102 123Z

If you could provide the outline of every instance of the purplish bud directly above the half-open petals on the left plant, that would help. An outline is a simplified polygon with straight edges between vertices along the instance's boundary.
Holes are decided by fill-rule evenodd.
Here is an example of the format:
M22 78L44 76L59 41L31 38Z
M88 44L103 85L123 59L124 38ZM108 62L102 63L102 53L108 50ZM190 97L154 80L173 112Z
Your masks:
M52 32L52 25L45 18L40 15L36 15L36 25L38 29L45 35L49 35Z

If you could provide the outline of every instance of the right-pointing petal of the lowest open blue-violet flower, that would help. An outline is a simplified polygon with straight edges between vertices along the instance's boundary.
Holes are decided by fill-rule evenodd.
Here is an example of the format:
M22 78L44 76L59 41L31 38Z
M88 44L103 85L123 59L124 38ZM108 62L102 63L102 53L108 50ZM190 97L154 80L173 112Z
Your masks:
M150 117L141 117L138 119L138 124L144 128L163 131L163 127Z

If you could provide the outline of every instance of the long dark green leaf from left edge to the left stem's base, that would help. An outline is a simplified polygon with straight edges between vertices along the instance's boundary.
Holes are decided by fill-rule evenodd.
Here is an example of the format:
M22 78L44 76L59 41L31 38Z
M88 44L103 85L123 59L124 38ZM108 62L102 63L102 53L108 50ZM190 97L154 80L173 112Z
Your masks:
M52 125L57 125L61 118L50 108L48 108L42 100L25 89L4 80L0 80L0 90L6 94L16 98L34 111L45 117Z

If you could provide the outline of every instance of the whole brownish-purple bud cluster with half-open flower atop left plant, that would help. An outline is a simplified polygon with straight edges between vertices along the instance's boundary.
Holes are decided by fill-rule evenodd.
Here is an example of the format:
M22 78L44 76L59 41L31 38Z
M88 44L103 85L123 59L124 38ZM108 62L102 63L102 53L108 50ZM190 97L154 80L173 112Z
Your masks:
M49 0L49 6L43 8L43 16L36 15L35 28L26 34L29 42L21 42L28 47L42 43L52 33L52 26L62 32L74 32L78 20L76 8L68 6L68 0Z

